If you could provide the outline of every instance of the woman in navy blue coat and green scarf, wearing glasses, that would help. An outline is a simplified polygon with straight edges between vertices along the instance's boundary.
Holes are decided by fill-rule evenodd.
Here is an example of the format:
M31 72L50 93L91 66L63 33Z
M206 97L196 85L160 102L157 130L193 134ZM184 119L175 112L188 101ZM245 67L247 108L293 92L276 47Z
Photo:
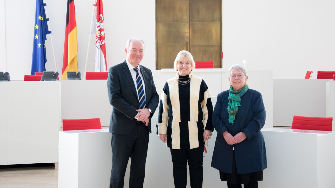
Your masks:
M229 90L217 96L212 123L217 131L211 166L228 188L258 187L263 180L266 151L261 128L265 124L262 95L249 89L247 71L229 68Z

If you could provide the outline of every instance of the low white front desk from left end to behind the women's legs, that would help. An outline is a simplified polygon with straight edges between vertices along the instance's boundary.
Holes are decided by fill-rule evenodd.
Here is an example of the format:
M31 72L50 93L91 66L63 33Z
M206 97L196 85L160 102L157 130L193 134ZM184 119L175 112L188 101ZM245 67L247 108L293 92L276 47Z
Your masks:
M60 131L58 187L109 187L112 169L111 135L108 129ZM204 153L204 187L225 185L219 180L219 171L210 167L215 136L216 132L213 132L213 138L209 140L209 146L206 146L208 153ZM130 160L124 187L129 187L129 172ZM155 133L149 136L144 187L174 187L170 149L165 147ZM187 187L190 187L189 177Z

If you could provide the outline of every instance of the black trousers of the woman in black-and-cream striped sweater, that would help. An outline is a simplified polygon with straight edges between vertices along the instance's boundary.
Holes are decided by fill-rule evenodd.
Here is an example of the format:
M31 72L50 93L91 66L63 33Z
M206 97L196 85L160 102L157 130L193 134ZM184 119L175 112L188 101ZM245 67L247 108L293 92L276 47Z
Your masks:
M190 169L191 188L202 188L204 176L202 168L203 154L203 146L191 150L171 149L175 188L186 188L187 163Z

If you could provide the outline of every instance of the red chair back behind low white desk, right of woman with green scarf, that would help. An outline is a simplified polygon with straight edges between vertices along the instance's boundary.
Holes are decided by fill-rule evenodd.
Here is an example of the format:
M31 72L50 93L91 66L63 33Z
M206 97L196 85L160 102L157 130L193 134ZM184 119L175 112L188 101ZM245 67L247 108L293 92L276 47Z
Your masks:
M291 129L332 131L332 125L332 117L305 117L295 115L293 116Z

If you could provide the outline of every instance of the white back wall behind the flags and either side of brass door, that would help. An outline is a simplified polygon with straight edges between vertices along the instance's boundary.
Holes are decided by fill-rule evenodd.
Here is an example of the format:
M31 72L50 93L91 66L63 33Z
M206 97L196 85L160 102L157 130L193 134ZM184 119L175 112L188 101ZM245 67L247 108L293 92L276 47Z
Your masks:
M67 0L45 0L61 72ZM0 69L7 66L12 80L30 73L34 33L35 0L0 0L5 5L6 56L0 54ZM93 0L76 0L78 69L84 72ZM242 64L247 69L273 70L274 79L304 78L306 71L335 70L335 1L331 0L222 0L223 68ZM1 10L4 9L0 7ZM1 11L3 12L3 11ZM104 1L107 67L125 60L128 38L143 38L142 65L155 69L155 1ZM3 16L3 13L0 13ZM0 37L3 39L3 31ZM2 42L3 43L3 42ZM50 36L47 40L47 71L54 62ZM94 44L90 43L87 71L94 71ZM0 44L0 53L3 53ZM172 54L171 56L176 56ZM7 57L7 58L6 58ZM6 61L6 64L3 62Z

